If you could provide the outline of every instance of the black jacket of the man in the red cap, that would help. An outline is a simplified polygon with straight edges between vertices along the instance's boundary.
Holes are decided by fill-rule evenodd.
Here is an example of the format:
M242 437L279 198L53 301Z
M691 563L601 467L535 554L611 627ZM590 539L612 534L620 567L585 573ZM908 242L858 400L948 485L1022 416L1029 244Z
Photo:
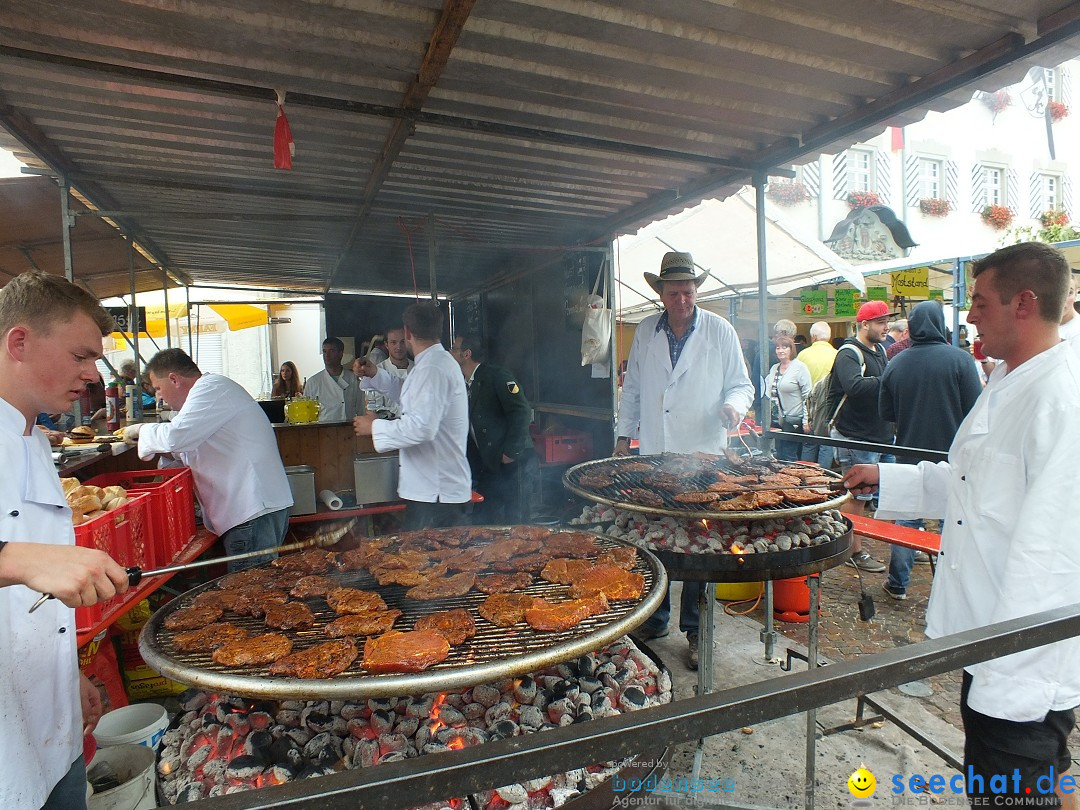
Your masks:
M833 361L828 401L836 408L846 393L847 401L836 419L836 430L847 438L859 442L892 444L892 423L878 415L878 392L881 390L881 375L885 373L885 349L875 346L867 349L854 338L843 341L843 347L854 346L862 354L866 370L859 374L859 355L851 349L841 348Z

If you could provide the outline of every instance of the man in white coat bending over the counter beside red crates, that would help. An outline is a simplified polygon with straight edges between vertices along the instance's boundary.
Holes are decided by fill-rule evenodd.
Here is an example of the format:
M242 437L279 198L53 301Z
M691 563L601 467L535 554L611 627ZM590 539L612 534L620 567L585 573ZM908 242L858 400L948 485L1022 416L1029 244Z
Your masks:
M138 444L141 459L170 454L191 468L203 523L227 554L281 545L293 492L258 403L228 377L200 372L180 349L158 352L146 372L158 396L177 413L168 422L129 426L124 441ZM268 558L230 563L229 570Z

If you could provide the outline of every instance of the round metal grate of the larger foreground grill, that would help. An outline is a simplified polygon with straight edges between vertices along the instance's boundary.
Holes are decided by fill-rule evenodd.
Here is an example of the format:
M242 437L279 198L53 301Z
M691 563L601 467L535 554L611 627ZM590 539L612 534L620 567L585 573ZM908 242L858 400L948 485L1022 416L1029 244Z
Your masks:
M481 527L484 528L484 527ZM492 539L509 536L507 527L486 527ZM343 586L375 591L389 608L403 611L394 622L395 630L411 630L421 616L441 610L465 608L476 623L476 635L450 649L442 663L421 673L375 675L361 666L363 637L357 637L361 656L340 675L327 679L274 677L267 666L228 667L215 663L210 653L181 652L173 644L173 633L163 627L165 619L176 610L187 607L191 598L213 590L217 580L207 582L173 599L159 609L147 622L139 636L139 651L144 660L162 675L189 686L244 694L253 698L282 699L359 699L393 698L403 694L422 694L451 689L462 689L501 678L514 677L553 663L566 661L622 636L652 615L667 591L667 575L650 552L615 538L596 536L600 552L619 546L631 546L637 552L634 570L645 577L645 594L637 602L612 602L607 612L593 616L577 626L563 632L532 630L524 621L512 627L498 627L476 613L475 608L487 598L486 594L470 591L464 596L417 602L405 597L407 588L379 585L366 570L330 571L326 576ZM268 564L269 565L269 564ZM537 577L524 593L543 596L551 602L567 598L568 586L546 582ZM330 640L323 627L337 618L321 597L302 599L315 616L310 630L273 631L262 619L226 612L219 621L228 621L255 633L284 632L293 639L293 651L313 647Z

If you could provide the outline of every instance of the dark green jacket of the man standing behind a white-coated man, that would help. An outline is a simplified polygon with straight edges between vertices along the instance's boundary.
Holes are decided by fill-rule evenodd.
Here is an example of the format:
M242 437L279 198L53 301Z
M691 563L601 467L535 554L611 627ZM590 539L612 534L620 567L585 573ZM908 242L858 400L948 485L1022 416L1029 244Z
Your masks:
M531 453L531 421L532 406L514 376L490 363L476 366L469 387L469 461L473 472L481 468L495 472L502 469L503 456L518 461Z

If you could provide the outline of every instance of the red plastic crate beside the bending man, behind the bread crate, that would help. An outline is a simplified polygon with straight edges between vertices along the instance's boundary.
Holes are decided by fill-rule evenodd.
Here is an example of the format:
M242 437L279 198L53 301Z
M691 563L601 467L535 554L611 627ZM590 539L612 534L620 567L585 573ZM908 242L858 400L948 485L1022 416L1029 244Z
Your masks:
M195 536L194 480L187 467L106 473L86 483L150 496L151 567L168 565Z

